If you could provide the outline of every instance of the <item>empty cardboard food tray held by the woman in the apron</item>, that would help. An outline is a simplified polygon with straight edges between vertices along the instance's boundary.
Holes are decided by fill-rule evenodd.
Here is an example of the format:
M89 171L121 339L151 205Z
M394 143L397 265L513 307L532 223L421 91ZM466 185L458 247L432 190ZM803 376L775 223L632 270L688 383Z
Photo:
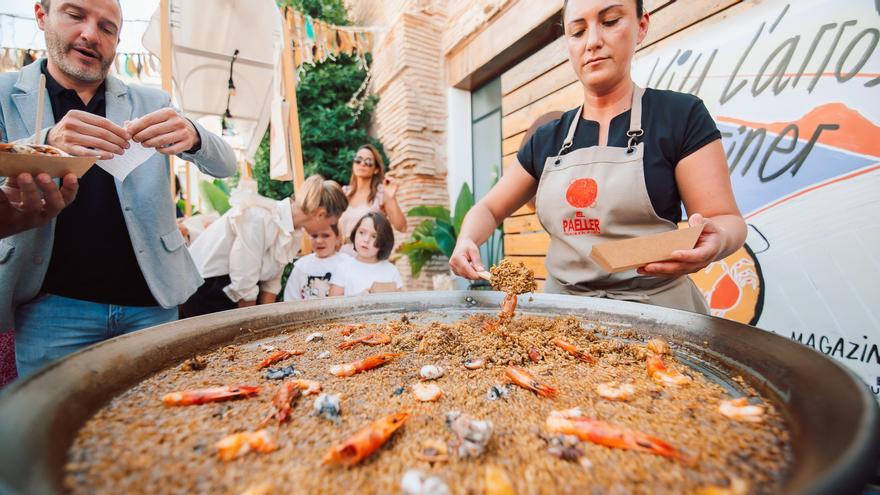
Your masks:
M590 251L590 257L609 273L624 272L648 263L672 259L673 251L693 249L702 232L702 226L688 227L596 244Z

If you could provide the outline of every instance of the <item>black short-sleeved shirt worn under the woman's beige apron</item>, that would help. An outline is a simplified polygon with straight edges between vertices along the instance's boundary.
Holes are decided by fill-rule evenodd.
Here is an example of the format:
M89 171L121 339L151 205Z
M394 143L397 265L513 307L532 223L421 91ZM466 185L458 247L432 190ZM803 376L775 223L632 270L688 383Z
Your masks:
M522 167L541 179L547 157L556 156L577 110L570 110L541 127L517 154ZM625 148L630 111L611 119L608 146ZM675 166L706 144L721 139L721 133L703 101L696 96L646 89L642 98L642 129L645 143L644 168L648 196L657 216L671 222L681 220L681 196L675 183ZM572 149L599 144L599 123L583 118L574 133Z

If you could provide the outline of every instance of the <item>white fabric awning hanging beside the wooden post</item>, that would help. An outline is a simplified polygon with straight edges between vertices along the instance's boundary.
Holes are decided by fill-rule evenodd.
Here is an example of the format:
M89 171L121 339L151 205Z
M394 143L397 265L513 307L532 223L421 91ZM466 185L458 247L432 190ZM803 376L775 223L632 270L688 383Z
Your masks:
M229 98L230 132L245 157L266 132L275 91L273 71L281 46L281 14L273 0L172 0L172 73L181 110L216 129L226 111L229 70L235 95ZM143 36L153 55L161 53L159 10Z

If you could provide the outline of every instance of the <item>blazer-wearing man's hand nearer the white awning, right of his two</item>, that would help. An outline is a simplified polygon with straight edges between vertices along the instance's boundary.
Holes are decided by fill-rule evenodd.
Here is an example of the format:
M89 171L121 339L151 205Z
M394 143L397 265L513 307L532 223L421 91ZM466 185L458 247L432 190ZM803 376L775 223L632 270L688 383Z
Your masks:
M183 153L201 143L195 126L169 107L132 120L125 128L135 142L163 155Z

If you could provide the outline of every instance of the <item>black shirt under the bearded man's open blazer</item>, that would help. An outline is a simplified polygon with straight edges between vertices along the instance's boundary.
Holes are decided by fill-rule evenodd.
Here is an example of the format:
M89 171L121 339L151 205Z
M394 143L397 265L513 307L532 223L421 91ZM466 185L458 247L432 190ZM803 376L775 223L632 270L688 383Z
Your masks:
M106 117L103 84L86 104L49 75L45 61L43 74L55 122L70 110ZM116 182L97 165L79 179L76 199L58 215L42 292L103 304L157 305L134 255Z

